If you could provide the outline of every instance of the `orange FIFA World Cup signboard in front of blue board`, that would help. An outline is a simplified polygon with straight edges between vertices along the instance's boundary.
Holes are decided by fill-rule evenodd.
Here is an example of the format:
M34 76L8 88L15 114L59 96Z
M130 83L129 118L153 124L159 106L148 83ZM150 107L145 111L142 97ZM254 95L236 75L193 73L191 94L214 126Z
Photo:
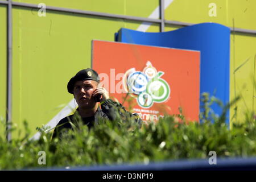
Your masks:
M199 121L200 52L94 40L92 68L110 97L143 121L164 114Z

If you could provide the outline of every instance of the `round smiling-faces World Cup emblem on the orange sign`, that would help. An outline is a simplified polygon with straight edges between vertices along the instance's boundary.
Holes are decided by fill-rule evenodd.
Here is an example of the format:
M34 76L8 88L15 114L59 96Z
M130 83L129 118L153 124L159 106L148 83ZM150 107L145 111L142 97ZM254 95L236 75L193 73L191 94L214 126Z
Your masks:
M142 72L131 68L123 76L123 86L126 92L137 98L139 106L144 108L151 107L154 102L162 103L166 101L171 93L168 83L161 78L162 71L156 71L150 61Z

